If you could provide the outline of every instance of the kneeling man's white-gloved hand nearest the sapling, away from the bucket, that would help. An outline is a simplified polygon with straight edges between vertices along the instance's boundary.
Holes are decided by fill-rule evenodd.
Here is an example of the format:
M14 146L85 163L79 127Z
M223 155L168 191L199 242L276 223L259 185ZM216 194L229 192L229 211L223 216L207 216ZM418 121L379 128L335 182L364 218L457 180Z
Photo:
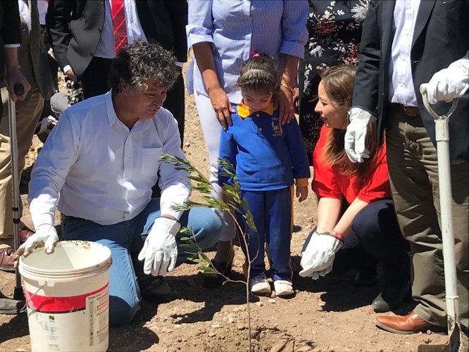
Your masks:
M177 259L175 236L181 225L170 218L156 218L150 233L145 239L138 259L144 261L146 275L164 276L174 270Z

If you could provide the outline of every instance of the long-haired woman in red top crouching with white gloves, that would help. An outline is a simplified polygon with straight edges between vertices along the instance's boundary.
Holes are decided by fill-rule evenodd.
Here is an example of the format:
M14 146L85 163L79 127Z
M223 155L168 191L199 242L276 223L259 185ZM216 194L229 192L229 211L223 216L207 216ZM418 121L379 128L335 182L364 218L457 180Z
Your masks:
M321 74L315 111L325 125L313 154L312 182L318 196L318 226L304 245L300 275L325 276L335 258L336 267L341 267L336 270L356 268L374 276L380 260L384 289L372 305L385 312L401 306L408 296L410 263L391 199L386 144L378 145L376 129L370 128L364 163L351 163L344 151L354 79L355 68L346 65Z

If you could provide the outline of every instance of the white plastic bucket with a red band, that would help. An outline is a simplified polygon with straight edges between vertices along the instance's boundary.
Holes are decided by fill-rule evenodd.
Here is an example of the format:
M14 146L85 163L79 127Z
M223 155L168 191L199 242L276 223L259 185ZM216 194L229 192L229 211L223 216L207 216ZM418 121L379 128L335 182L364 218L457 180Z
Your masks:
M20 258L33 352L106 351L111 264L111 251L89 241Z

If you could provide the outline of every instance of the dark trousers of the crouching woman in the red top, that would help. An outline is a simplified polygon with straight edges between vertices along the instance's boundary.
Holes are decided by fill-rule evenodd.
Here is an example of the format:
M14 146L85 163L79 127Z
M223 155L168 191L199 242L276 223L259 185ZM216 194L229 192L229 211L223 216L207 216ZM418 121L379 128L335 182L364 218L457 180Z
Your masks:
M352 230L334 259L334 271L375 270L380 261L384 286L397 287L410 279L408 244L402 237L391 199L374 201L352 222Z

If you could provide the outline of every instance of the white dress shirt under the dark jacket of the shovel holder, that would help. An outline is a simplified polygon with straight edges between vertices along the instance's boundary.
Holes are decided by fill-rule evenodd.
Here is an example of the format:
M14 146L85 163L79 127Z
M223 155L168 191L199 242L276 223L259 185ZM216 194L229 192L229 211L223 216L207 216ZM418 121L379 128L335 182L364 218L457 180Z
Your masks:
M389 65L389 101L417 106L413 88L411 49L420 0L398 0L394 7L394 39Z

